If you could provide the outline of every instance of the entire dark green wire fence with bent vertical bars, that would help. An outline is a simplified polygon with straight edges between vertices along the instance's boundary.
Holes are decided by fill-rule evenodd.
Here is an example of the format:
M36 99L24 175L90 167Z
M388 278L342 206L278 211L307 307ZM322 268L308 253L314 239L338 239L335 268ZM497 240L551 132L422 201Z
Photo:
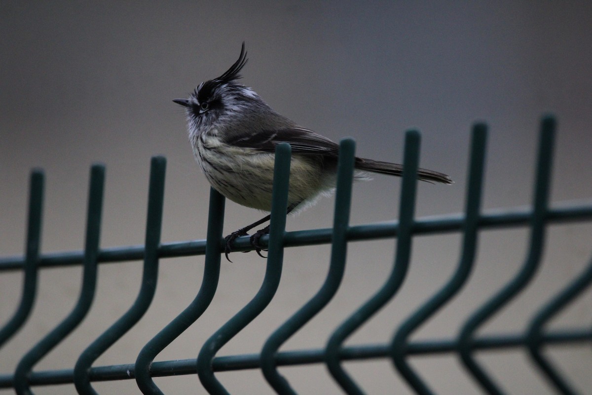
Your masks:
M427 385L421 372L408 363L408 357L454 354L458 355L469 377L475 380L484 393L502 394L504 392L500 384L496 383L490 372L477 361L475 353L484 349L519 348L528 352L533 366L546 380L550 390L562 394L575 394L577 390L574 383L557 370L551 360L545 356L543 349L545 346L554 344L590 345L592 327L551 331L545 330L545 325L590 287L592 261L551 300L540 305L538 312L527 320L525 332L507 335L475 335L488 319L509 304L532 280L539 268L542 249L545 245L545 231L549 224L592 220L592 203L561 208L549 207L554 135L554 118L551 116L543 118L532 208L495 213L481 212L487 127L480 123L476 124L472 131L464 214L415 219L417 183L415 175L419 163L420 135L417 131L408 131L404 147L399 220L359 226L349 225L355 144L350 139L343 140L340 143L333 228L288 233L285 232L285 207L287 207L291 149L288 144L280 144L276 150L271 232L269 236L261 239L263 245L268 246L269 253L265 278L258 293L239 313L213 333L201 346L201 350L196 349L197 358L161 362L153 361L159 352L200 318L215 295L220 277L220 257L224 250L222 234L224 198L211 190L207 239L161 243L166 160L155 157L152 159L150 170L146 242L143 246L100 249L99 235L105 172L102 165L94 165L91 168L84 251L42 254L39 246L43 218L44 176L43 171L34 169L31 173L24 256L0 258L0 272L22 271L24 274L21 302L11 319L0 329L0 347L8 342L27 321L35 301L40 269L82 265L82 290L72 312L43 339L39 339L36 345L31 346L25 355L22 355L13 372L0 374L0 388L14 388L17 394L22 395L33 394L32 387L73 383L79 394L96 394L92 387L95 381L134 378L142 393L162 394L153 377L197 373L202 386L209 393L226 394L228 391L217 380L215 372L260 369L269 386L277 393L294 394L294 388L285 377L279 374L278 367L325 364L330 375L345 393L363 394L364 389L344 370L342 362L384 358L392 361L393 374L400 375L416 393L433 394L436 389ZM410 341L413 333L442 309L468 281L475 262L480 230L510 227L527 227L530 231L527 256L517 274L482 306L469 314L469 318L461 325L461 330L455 338ZM458 266L445 285L404 319L398 327L392 329L390 343L345 346L344 343L349 336L371 320L372 316L391 301L401 288L410 265L413 237L421 234L438 235L451 232L462 233L462 251ZM371 298L352 311L350 316L334 329L327 339L326 347L278 351L284 342L316 316L337 293L345 271L348 242L389 237L397 240L391 274ZM269 333L259 354L217 356L218 350L262 313L274 298L282 274L284 248L323 243L330 243L332 250L329 272L320 290L281 326ZM235 246L239 250L247 251L250 249L249 237L240 237L236 240ZM159 258L189 255L205 255L201 288L191 304L146 343L135 363L94 367L95 360L139 322L150 306L158 280ZM97 265L104 262L138 259L143 259L144 262L141 288L136 301L127 313L96 340L89 342L72 369L34 370L37 362L64 341L85 318L95 296Z

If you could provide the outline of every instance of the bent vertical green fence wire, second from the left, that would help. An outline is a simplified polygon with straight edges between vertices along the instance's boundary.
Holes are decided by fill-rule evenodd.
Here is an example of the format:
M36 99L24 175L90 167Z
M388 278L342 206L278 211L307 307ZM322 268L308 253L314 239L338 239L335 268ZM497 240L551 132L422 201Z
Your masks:
M88 211L86 214L86 242L82 272L82 289L78 302L68 316L38 342L18 362L14 372L14 389L18 395L31 395L33 391L28 384L28 375L33 366L47 353L62 342L72 330L82 322L91 309L96 288L96 258L99 251L101 235L101 214L103 190L105 184L105 167L91 167L91 181L88 194Z

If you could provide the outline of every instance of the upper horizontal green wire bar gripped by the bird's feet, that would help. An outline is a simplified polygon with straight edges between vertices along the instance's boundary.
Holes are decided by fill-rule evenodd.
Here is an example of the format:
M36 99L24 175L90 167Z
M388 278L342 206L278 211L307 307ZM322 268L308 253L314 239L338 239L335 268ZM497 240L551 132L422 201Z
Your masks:
M480 229L527 226L532 210L530 208L511 208L508 210L491 210L481 214L478 226ZM545 220L548 223L565 223L585 221L592 218L592 203L581 205L550 208ZM463 214L448 214L445 216L431 216L417 219L413 226L414 235L428 235L430 233L458 232L464 223ZM363 224L350 226L348 240L384 239L397 236L398 221L384 223ZM287 232L284 238L286 247L327 244L331 242L332 229L297 230ZM268 236L263 236L260 242L266 245ZM234 240L236 251L252 249L249 236ZM221 251L221 250L220 250ZM162 243L158 249L159 258L174 258L178 256L203 255L205 240L186 242ZM39 266L57 267L71 266L82 263L83 251L51 252L40 255ZM99 251L98 262L140 261L144 258L144 246L120 246L104 248ZM0 272L22 269L25 258L22 255L0 258Z

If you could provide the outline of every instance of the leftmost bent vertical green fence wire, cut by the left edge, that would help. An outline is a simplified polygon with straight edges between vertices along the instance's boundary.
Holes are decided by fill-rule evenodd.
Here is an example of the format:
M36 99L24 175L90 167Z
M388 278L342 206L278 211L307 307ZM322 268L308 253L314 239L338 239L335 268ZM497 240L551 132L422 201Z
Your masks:
M41 217L43 215L43 184L43 171L41 169L31 171L27 241L25 243L25 262L22 267L24 279L22 281L21 303L18 304L17 311L15 311L11 319L0 329L0 348L24 325L29 314L31 314L35 302L37 293L37 264L41 243Z

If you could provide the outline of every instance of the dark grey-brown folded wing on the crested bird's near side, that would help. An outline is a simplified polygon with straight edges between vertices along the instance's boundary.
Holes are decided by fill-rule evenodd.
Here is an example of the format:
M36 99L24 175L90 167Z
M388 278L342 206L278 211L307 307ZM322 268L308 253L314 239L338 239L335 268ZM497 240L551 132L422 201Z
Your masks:
M292 153L300 155L322 155L337 157L339 145L303 127L285 127L274 130L260 130L249 136L230 136L224 143L235 147L275 152L279 143L289 143Z

